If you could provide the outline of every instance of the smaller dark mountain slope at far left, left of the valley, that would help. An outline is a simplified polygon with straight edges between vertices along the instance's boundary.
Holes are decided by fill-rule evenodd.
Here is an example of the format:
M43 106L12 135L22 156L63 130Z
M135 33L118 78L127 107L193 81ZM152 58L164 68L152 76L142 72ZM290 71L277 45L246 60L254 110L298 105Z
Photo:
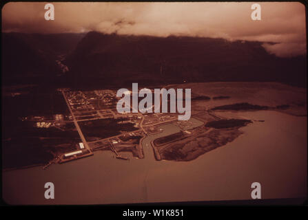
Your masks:
M3 83L39 83L61 73L57 60L74 50L84 34L1 34Z

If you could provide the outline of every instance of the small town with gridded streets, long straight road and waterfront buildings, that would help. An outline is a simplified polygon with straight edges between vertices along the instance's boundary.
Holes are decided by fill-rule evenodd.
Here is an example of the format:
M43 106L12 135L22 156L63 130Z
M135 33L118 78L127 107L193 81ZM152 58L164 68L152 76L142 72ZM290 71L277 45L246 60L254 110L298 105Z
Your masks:
M68 106L70 113L67 115L54 114L52 118L32 115L22 118L23 121L32 122L34 127L39 129L50 129L52 127L65 131L68 124L74 124L79 133L80 142L75 144L74 151L54 154L54 159L48 162L43 168L48 168L54 163L70 162L74 159L88 157L94 151L109 149L116 155L117 159L129 159L121 155L119 151L130 151L135 157L143 158L142 140L148 133L160 133L158 125L178 120L176 113L119 113L116 109L116 92L106 90L94 91L71 91L70 89L58 89ZM122 129L115 135L107 137L90 137L92 128L89 122L101 123L110 120L118 126L130 126L128 130ZM189 121L181 121L180 124L188 124ZM180 125L179 126L183 126ZM88 132L89 131L89 132ZM187 131L189 132L189 131Z

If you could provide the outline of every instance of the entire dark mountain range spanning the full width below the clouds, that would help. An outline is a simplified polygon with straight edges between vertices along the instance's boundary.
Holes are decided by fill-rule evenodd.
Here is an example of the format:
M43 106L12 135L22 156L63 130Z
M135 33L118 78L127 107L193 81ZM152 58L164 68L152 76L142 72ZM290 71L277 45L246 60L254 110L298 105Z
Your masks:
M132 83L277 81L307 86L306 55L279 58L263 42L88 32L2 33L1 43L4 84L94 89Z

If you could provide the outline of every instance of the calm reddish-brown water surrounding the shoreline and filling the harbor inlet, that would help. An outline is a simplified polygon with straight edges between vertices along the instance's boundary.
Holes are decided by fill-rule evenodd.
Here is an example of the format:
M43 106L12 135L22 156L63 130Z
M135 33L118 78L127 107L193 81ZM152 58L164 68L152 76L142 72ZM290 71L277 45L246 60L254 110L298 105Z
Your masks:
M276 111L221 114L265 122L243 127L243 135L234 142L191 162L154 159L150 141L180 131L175 124L168 124L161 126L163 133L144 140L144 159L123 153L130 157L126 161L99 151L47 170L39 166L6 171L2 173L3 199L12 204L250 199L254 181L260 182L263 199L306 195L307 117ZM53 200L44 198L48 181L55 186Z

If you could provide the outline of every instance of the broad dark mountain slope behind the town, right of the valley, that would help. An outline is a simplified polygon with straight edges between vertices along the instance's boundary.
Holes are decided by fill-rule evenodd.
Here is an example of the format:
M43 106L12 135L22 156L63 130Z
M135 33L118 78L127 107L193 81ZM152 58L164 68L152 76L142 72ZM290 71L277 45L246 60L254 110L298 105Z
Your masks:
M89 32L65 60L74 85L280 81L305 86L305 57L278 58L260 42Z

